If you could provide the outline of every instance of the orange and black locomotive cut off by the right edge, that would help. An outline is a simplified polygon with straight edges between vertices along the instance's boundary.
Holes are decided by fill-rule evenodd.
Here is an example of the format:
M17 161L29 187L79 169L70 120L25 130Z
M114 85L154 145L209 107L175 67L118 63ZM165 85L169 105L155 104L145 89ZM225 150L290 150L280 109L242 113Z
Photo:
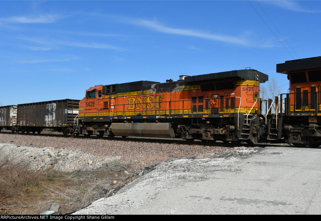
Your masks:
M287 74L290 93L276 102L280 111L271 115L269 128L276 132L271 133L296 147L320 146L321 57L285 61L276 65L276 72Z

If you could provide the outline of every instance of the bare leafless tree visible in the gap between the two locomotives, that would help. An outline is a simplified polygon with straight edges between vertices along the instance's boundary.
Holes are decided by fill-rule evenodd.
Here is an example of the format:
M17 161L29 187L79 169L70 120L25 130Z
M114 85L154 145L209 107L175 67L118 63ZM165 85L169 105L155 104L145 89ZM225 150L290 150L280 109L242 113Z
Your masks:
M279 96L281 94L282 90L279 86L277 80L275 78L272 78L268 81L266 85L260 86L261 91L261 100L262 100L262 113L266 114L266 111L268 110L268 99L274 99L274 97ZM274 109L274 107L273 107Z

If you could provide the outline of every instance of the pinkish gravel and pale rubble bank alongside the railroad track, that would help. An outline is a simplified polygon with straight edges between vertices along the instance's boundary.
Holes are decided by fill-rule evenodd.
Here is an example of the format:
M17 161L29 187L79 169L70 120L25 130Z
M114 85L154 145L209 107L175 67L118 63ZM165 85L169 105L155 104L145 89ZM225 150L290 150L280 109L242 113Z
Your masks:
M0 134L0 156L36 170L95 170L120 160L130 172L173 159L204 159L246 154L248 148L143 143L73 137Z

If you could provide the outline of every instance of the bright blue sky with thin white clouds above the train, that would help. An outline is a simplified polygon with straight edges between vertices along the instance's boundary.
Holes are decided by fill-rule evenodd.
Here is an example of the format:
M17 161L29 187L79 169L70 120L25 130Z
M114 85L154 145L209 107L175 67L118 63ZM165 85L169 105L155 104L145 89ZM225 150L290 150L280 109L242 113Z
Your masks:
M0 1L0 102L82 99L100 84L246 67L287 84L277 63L321 56L321 1L250 3Z

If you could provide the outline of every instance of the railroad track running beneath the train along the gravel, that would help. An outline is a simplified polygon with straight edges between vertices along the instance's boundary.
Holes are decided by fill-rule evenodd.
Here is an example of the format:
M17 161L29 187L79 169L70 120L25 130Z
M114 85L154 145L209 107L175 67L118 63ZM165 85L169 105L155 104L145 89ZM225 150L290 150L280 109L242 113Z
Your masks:
M166 139L166 138L140 138L140 137L98 137L98 136L75 136L75 135L63 135L63 134L32 134L32 133L12 133L12 132L0 132L0 134L17 134L17 135L25 135L25 136L52 136L52 137L67 137L67 138L76 138L76 139L98 139L98 140L115 140L115 141L130 141L130 142L143 142L143 143L168 143L168 144L179 144L179 145L198 145L198 146L219 146L219 147L228 147L232 148L235 146L245 146L245 147L267 147L267 146L275 146L278 147L280 145L273 144L233 144L233 143L223 143L223 142L215 142L215 143L207 143L199 140L195 141L185 141L182 139ZM290 147L294 147L289 145Z

